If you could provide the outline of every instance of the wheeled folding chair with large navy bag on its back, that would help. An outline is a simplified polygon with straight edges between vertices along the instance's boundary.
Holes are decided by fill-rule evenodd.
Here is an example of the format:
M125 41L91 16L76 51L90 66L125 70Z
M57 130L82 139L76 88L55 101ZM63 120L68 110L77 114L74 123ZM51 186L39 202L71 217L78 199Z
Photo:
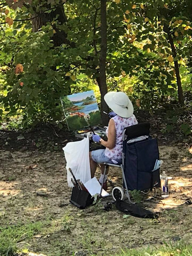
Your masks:
M121 168L123 185L112 190L115 200L128 198L132 203L129 190L152 190L160 187L159 169L154 171L159 151L156 138L149 135L150 124L139 123L129 126L123 131L122 164L105 164L104 177L108 166ZM104 183L104 181L103 181ZM101 187L103 187L103 183ZM102 188L101 188L102 191Z

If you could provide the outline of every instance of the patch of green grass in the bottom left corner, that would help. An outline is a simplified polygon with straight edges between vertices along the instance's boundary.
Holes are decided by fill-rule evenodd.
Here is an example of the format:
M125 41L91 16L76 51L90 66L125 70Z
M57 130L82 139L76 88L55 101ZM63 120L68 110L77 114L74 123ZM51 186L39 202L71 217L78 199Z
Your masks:
M41 225L39 221L26 225L0 227L0 256L13 256L22 244L29 245L24 240L39 232Z

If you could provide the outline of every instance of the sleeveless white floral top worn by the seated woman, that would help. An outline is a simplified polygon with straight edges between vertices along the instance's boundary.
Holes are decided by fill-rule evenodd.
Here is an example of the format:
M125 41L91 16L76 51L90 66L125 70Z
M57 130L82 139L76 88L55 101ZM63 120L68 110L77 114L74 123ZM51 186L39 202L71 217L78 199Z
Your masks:
M123 131L126 127L138 124L134 115L129 118L123 118L118 115L112 118L115 122L115 129L116 129L116 143L114 148L109 149L106 147L105 155L111 159L121 159L122 158L122 151L123 151ZM106 130L106 134L108 136L108 128Z

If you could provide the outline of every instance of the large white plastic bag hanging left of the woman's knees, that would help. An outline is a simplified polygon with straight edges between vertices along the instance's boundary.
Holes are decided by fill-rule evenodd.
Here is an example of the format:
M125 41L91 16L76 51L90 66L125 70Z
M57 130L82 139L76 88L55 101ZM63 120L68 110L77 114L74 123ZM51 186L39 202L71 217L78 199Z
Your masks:
M89 162L89 137L87 136L83 140L67 143L63 147L65 159L67 161L67 182L69 187L72 187L72 172L76 180L80 179L82 183L86 183L91 179L91 170Z

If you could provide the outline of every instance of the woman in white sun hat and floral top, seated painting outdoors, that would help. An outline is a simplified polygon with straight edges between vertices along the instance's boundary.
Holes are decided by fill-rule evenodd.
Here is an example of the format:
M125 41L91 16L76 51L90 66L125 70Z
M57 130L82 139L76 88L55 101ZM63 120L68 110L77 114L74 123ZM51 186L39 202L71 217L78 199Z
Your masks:
M108 140L103 140L99 135L92 135L93 141L105 146L105 149L98 149L90 152L91 177L96 172L97 164L101 166L101 177L99 182L104 179L103 188L107 189L107 174L104 177L105 165L102 163L121 164L122 163L122 134L124 128L137 124L137 120L133 115L133 106L129 97L123 92L108 92L104 99L108 107L113 110L109 113L111 117L108 122L106 134Z

